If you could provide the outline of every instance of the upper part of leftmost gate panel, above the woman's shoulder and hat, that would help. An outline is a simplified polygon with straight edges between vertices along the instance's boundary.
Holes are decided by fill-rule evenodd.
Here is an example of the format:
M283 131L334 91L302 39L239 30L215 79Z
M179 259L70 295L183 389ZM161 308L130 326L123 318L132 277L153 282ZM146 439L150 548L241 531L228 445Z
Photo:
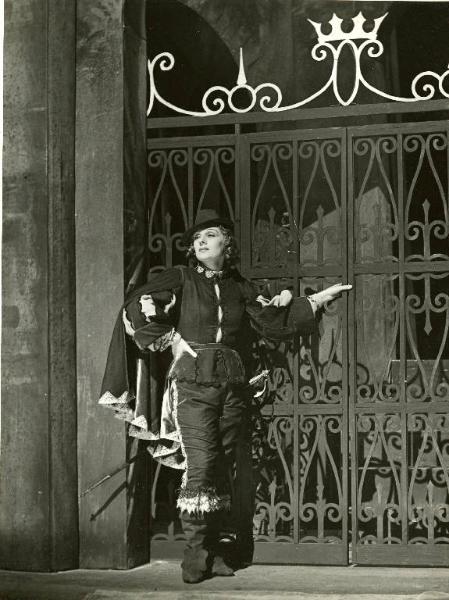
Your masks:
M180 244L198 210L214 208L239 221L234 135L148 142L148 251L151 271L185 263Z

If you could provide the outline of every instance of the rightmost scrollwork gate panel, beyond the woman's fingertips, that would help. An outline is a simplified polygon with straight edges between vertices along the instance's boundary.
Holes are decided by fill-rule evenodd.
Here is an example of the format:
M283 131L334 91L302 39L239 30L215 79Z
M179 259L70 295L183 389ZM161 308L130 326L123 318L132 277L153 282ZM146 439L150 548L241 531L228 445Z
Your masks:
M348 140L353 559L448 565L447 124Z

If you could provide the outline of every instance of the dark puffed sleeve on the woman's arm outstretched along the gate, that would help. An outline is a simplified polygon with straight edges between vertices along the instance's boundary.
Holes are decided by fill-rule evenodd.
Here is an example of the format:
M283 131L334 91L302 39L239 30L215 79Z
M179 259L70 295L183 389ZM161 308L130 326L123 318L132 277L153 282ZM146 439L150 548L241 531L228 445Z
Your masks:
M249 281L244 282L246 312L255 331L269 340L284 340L295 334L309 335L318 329L306 297L294 297L287 306L273 306Z

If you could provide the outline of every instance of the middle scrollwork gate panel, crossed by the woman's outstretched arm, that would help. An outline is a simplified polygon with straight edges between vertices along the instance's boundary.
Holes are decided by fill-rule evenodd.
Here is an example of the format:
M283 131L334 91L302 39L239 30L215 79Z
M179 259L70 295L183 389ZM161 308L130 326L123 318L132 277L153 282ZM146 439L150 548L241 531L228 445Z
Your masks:
M310 294L346 279L341 130L242 136L242 271L261 291ZM253 444L255 560L347 563L347 318L324 333L262 343L270 368Z

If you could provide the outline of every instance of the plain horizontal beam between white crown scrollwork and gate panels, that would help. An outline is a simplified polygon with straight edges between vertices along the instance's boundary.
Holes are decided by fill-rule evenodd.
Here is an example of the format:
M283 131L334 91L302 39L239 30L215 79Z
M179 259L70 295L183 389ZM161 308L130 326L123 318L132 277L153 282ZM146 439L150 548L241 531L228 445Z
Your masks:
M413 114L449 110L448 100L422 100L418 102L382 102L330 106L323 108L298 108L283 113L252 112L246 114L220 114L210 117L148 117L147 129L170 129L176 127L206 127L207 125L235 125L275 123L282 121L308 121L313 119L343 119L366 115Z

